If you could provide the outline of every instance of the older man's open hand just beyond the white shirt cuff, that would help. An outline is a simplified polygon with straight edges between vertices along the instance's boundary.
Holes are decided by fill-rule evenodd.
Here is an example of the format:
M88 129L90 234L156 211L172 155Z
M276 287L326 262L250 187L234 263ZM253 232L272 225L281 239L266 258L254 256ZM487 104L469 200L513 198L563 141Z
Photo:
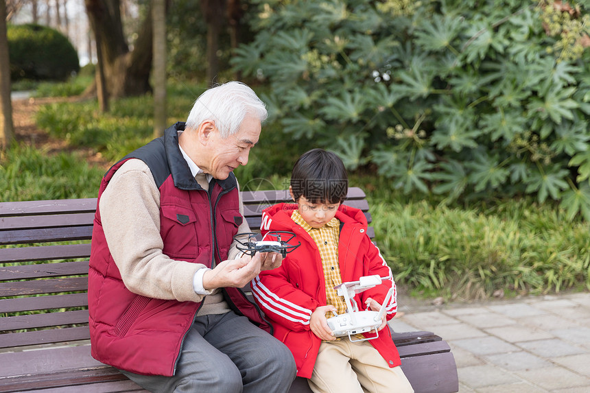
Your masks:
M261 268L259 252L254 257L244 254L238 259L228 259L203 274L203 288L244 287L260 273Z

